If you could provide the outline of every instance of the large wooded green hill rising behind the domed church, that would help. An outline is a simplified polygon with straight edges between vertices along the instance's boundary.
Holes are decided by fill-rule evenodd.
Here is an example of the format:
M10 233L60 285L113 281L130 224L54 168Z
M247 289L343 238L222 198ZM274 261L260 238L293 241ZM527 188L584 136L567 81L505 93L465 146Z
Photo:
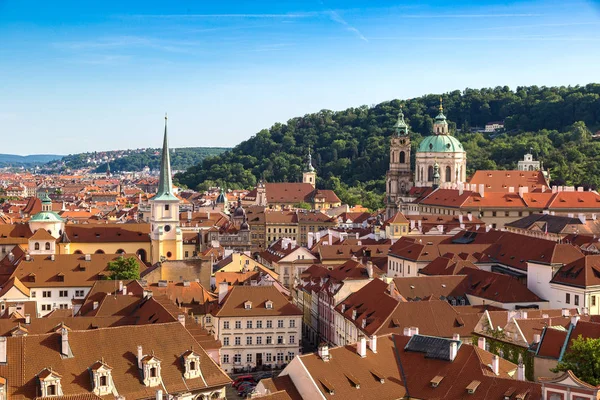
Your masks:
M516 168L531 149L557 184L600 186L600 84L574 87L465 89L442 95L450 130L467 151L468 173ZM334 189L349 204L383 205L389 137L400 106L416 147L429 135L440 95L393 100L373 107L322 110L276 123L231 151L207 157L176 180L191 188L250 188L270 182L298 181L312 149L317 185ZM490 121L505 130L477 132Z

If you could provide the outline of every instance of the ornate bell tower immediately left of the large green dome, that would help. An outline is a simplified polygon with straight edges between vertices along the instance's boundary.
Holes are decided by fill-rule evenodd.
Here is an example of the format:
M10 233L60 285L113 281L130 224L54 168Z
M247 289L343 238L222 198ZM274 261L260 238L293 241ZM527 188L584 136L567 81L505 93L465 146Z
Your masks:
M390 168L386 177L387 217L391 218L398 210L398 202L412 187L410 171L410 136L404 113L400 108L395 132L390 140Z

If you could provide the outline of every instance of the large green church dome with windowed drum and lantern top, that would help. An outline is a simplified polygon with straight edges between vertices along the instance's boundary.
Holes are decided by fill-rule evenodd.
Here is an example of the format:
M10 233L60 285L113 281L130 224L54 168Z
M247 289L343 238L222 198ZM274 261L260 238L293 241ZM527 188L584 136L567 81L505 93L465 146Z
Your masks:
M435 165L438 165L437 186L454 186L467 178L467 153L458 139L450 134L444 115L442 98L433 132L417 149L415 156L415 186L434 186Z

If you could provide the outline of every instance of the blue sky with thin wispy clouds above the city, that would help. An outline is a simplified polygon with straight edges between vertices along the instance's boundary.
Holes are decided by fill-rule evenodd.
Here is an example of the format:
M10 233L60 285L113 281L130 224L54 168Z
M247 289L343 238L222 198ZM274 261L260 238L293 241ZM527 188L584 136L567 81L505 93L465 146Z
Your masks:
M592 1L0 0L2 153L234 146L323 108L600 77Z

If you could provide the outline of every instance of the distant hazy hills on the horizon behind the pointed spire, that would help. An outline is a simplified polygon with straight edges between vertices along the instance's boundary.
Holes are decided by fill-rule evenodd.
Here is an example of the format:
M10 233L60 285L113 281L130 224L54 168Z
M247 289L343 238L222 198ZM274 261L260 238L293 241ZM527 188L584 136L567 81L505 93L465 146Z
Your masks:
M171 167L174 170L185 170L196 165L206 157L216 156L229 150L224 147L184 147L171 149ZM63 157L61 167L78 169L89 167L88 160L102 159L104 156L112 159L109 162L111 172L141 171L144 167L151 170L160 168L161 149L122 150L102 153L80 153ZM95 172L106 172L107 164L102 162L94 169Z

